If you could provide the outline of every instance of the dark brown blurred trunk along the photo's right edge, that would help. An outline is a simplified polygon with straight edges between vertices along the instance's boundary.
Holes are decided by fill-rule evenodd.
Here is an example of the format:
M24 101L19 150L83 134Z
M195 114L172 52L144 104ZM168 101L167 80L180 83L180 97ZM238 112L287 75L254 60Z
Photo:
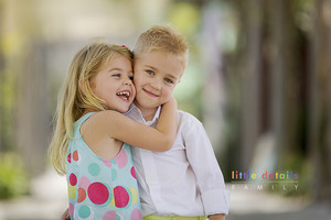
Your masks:
M330 33L328 32L328 0L314 0L313 29L311 33L311 73L309 109L309 146L313 165L313 191L317 200L331 199L330 154L327 144L328 72L330 70ZM330 3L330 2L329 2ZM329 23L330 25L330 23ZM329 28L330 29L330 28ZM322 172L323 170L323 172Z

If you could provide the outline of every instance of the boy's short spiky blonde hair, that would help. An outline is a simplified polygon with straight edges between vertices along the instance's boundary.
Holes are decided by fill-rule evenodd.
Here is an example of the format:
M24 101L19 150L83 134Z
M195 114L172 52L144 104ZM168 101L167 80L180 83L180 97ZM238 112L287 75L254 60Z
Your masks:
M135 58L153 51L174 55L184 66L189 59L185 37L170 24L157 24L140 34L134 48Z

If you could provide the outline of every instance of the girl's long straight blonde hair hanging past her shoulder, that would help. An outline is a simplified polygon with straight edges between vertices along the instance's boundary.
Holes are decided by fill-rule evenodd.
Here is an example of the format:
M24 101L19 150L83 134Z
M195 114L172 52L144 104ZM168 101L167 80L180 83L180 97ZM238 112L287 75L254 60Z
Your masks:
M104 101L94 95L89 80L102 70L104 65L118 56L124 56L132 62L132 53L126 46L90 43L78 51L72 61L58 96L54 117L56 124L49 148L52 165L60 175L66 173L67 145L73 139L74 122L83 116L86 109L106 110Z

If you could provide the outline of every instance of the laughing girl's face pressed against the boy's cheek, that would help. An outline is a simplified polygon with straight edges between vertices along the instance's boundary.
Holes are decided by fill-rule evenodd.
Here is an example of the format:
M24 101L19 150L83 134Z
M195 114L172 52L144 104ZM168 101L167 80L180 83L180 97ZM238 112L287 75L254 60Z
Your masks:
M118 56L109 61L89 85L94 94L105 101L107 109L126 112L136 96L132 77L130 61Z

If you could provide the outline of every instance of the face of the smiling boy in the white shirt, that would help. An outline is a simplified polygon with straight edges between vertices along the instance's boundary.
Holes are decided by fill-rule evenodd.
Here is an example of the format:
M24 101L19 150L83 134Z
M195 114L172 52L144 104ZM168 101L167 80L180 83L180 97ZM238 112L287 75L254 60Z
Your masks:
M171 54L142 53L135 59L136 106L141 110L166 103L183 72L183 64Z

